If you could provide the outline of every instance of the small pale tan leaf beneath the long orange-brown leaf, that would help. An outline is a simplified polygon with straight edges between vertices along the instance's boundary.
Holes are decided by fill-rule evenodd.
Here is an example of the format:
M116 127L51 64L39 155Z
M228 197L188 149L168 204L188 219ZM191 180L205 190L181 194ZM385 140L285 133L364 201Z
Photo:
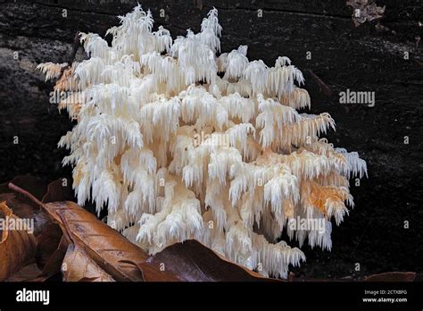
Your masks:
M62 264L64 282L114 282L109 273L100 268L95 261L78 245L70 244Z

